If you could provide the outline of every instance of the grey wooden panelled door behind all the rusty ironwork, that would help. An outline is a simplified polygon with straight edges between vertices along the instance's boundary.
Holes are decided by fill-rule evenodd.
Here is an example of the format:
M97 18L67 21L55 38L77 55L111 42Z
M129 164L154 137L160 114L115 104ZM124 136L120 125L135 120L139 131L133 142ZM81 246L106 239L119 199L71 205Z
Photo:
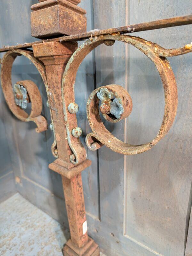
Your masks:
M1 46L35 40L30 37L30 5L36 0L2 0ZM82 0L88 28L101 29L191 13L191 0ZM22 15L21 15L22 13ZM17 25L16 25L17 23ZM165 48L190 43L192 26L134 33ZM4 35L4 36L3 36ZM150 151L124 156L102 147L87 150L92 166L83 172L88 232L107 256L190 256L192 253L191 81L192 55L169 59L178 84L179 106L169 134ZM50 123L44 85L36 69L20 57L13 82L31 79L43 95L43 114ZM94 88L124 86L132 96L130 117L106 127L121 140L142 144L155 137L164 111L163 87L153 63L132 46L116 42L89 54L78 70L78 125L90 132L86 101ZM4 105L4 108L5 105ZM4 112L6 135L17 190L36 206L68 226L61 177L48 169L53 135L36 134L33 124ZM85 144L84 144L85 145Z

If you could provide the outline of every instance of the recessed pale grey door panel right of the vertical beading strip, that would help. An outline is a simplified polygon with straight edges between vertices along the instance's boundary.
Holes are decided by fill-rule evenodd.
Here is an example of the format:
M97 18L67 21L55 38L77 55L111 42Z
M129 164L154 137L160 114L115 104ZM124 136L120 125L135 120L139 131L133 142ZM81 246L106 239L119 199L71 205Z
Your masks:
M191 1L131 1L129 22L185 15ZM191 26L135 33L165 48L191 42ZM162 255L184 255L191 206L191 54L169 58L175 73L179 104L168 135L150 151L126 157L125 222L127 239ZM154 64L129 48L129 93L133 111L127 121L127 142L155 137L164 111L162 83ZM136 255L132 253L131 255Z

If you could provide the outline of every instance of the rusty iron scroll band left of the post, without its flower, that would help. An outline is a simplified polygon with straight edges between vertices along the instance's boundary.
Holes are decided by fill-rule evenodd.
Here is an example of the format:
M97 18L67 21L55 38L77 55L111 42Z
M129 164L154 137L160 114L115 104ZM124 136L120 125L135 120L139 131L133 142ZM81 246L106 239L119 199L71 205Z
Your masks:
M22 85L28 93L31 102L31 113L28 115L25 110L16 105L13 87L12 87L12 65L17 56L27 57L38 69L44 83L46 84L46 76L43 66L33 57L32 52L25 50L11 50L5 53L2 59L1 66L1 85L4 93L5 100L12 111L12 113L21 121L29 122L33 121L36 123L36 132L40 133L47 129L47 121L41 116L42 111L42 99L39 90L32 81L25 80L20 81L17 84Z

